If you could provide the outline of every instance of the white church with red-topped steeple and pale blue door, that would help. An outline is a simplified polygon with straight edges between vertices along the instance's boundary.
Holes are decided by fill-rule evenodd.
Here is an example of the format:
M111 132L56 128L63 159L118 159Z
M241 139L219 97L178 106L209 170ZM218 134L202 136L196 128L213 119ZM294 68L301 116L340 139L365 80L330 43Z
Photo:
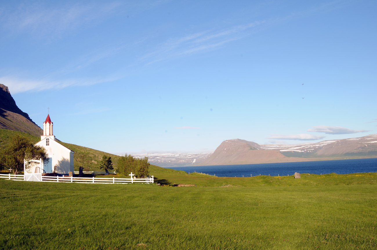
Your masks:
M27 172L56 173L59 175L74 172L73 155L75 152L56 141L52 126L53 123L48 114L46 120L43 122L43 136L41 136L39 142L35 143L35 145L43 146L46 149L48 161L41 165L32 166L26 170Z

